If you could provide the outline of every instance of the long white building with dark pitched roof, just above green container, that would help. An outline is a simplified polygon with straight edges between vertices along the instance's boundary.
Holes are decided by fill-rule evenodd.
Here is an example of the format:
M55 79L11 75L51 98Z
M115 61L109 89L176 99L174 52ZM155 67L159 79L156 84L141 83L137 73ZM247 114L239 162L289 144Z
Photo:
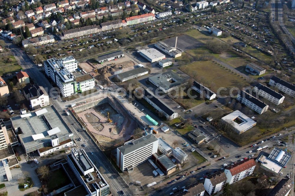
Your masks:
M165 102L163 102L161 99L157 98L150 90L139 87L135 89L135 91L137 92L137 95L145 99L151 106L162 113L167 119L171 120L179 116L176 111L165 104Z

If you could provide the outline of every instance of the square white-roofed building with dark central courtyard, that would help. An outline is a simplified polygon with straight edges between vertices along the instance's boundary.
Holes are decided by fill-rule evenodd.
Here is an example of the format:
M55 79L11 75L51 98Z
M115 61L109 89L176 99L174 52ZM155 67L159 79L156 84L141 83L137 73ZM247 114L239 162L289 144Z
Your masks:
M242 134L256 125L254 120L250 119L239 110L222 117L221 122L227 123L238 134Z

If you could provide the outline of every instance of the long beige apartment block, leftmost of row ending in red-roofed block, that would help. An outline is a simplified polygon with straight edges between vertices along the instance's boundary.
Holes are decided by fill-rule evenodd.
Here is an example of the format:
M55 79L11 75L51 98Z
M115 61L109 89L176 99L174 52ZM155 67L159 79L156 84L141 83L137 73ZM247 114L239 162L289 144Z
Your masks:
M91 26L84 26L76 29L70 29L63 31L62 34L60 35L60 39L71 39L73 37L81 37L84 35L89 35L89 34L96 34L100 32L101 29L97 25L91 25Z

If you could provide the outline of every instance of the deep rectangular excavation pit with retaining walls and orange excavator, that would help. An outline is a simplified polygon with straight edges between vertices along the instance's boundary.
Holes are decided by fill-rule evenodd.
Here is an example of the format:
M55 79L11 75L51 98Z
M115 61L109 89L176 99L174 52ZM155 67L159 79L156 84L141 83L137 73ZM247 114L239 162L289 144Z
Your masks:
M80 104L72 112L104 149L115 147L118 139L130 139L137 127L145 126L113 96Z

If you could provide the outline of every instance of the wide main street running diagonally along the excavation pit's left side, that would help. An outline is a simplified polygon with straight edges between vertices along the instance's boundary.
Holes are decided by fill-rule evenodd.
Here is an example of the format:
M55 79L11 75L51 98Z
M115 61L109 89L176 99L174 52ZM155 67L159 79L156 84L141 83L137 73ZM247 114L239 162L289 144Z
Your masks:
M48 91L47 93L49 96L51 96L49 93L50 89L53 88L51 83L47 80L45 75L40 72L40 69L38 69L37 66L31 61L30 57L28 57L27 54L15 44L12 44L7 40L5 40L5 42L14 55L18 54L18 56L15 56L15 58L20 62L22 69L24 69L24 71L29 74L30 78L32 78L37 85L44 87ZM95 96L98 93L92 94L92 96ZM67 102L62 102L60 98L55 99L55 97L50 97L51 104L53 104L55 109L60 113L62 118L72 130L78 147L83 148L86 151L96 167L99 168L102 166L104 168L104 177L110 185L112 194L116 195L120 190L123 190L125 195L134 195L132 190L130 190L130 188L126 185L122 177L110 164L107 157L103 154L103 152L101 152L91 137L85 131L82 131L82 127L76 121L75 117L72 114L70 116L64 115L64 110L66 109L65 105ZM77 140L79 137L82 139L81 142ZM81 146L83 143L86 143L86 147ZM91 155L91 152L93 152L93 155Z

